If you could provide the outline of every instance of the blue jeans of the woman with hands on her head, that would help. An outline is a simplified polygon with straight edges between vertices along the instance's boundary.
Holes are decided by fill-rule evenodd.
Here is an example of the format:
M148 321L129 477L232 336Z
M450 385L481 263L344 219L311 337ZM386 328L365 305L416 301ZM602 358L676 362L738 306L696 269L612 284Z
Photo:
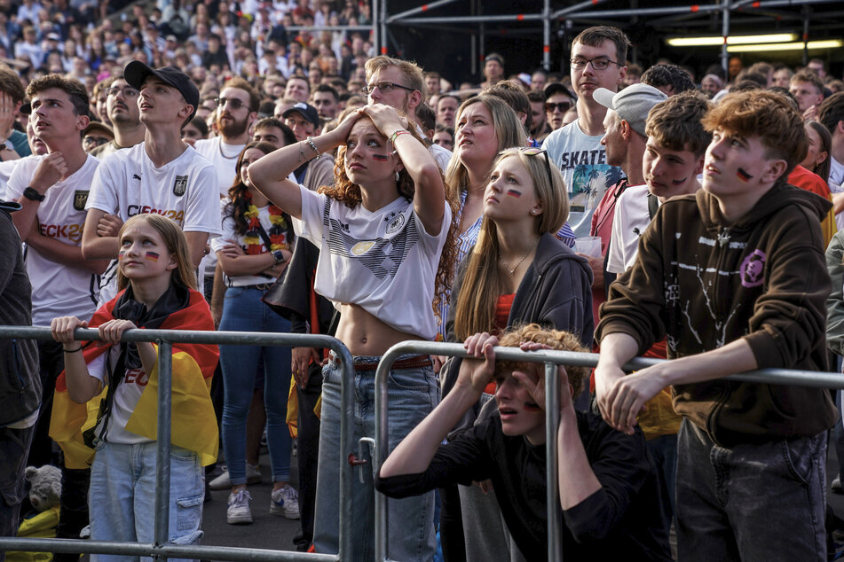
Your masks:
M405 359L402 355L398 360ZM356 357L356 363L377 363L380 357ZM313 545L317 552L335 554L339 549L340 527L340 379L341 370L331 362L322 371L322 416L319 433L319 468L317 473L317 505L313 524ZM375 435L375 371L355 371L355 442L360 437ZM387 383L389 401L390 451L407 433L422 422L439 402L437 379L433 369L419 367L390 371ZM367 454L368 464L372 458ZM357 472L357 471L356 471ZM362 471L364 483L357 474L352 480L352 551L349 560L371 560L375 556L375 487L372 470ZM390 537L389 552L393 560L430 560L434 556L434 493L388 502Z

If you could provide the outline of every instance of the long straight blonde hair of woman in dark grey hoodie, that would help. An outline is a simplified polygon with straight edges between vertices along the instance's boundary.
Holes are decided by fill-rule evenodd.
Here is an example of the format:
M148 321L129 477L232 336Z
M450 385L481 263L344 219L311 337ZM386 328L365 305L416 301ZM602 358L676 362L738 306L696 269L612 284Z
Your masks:
M533 219L533 231L540 237L546 233L556 234L569 218L569 198L563 175L556 166L546 168L547 154L542 151L531 152L531 149L519 148L505 150L498 155L493 168L508 158L517 158L522 163L532 178L536 199L542 202L542 213ZM455 303L454 336L458 341L466 340L473 333L489 332L493 328L495 303L506 286L498 262L498 227L484 216Z

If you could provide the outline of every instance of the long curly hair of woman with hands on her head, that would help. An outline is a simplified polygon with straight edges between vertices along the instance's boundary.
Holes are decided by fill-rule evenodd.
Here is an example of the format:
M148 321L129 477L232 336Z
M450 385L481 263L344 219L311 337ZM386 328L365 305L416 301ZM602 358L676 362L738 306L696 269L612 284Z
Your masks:
M354 109L345 110L343 113L337 117L337 122L343 122L346 115L355 111ZM363 114L360 116L360 119L370 119L368 115ZM410 134L416 138L419 142L424 144L422 137L416 132L413 126L408 128ZM335 199L336 201L340 201L346 205L346 207L352 208L356 207L360 204L362 200L360 195L360 186L357 183L353 183L349 176L346 176L346 147L340 146L337 149L337 157L335 159L334 165L334 177L335 183L333 185L324 185L319 188L320 193L325 193L331 199ZM439 171L439 176L443 180L443 185L446 186L446 202L448 203L448 207L451 208L452 211L452 222L451 225L448 227L448 234L446 236L446 244L443 246L443 253L439 257L439 265L437 268L437 277L436 277L436 285L435 289L435 296L434 301L431 303L431 306L434 309L434 314L439 318L439 303L445 298L445 295L451 291L452 281L454 280L454 271L457 267L457 235L459 233L459 223L457 220L458 211L460 209L460 199L457 198L449 198L448 193L449 190L446 185L446 176L443 176L442 170ZM401 171L398 172L398 194L407 199L408 201L413 201L414 193L416 192L416 185L414 184L414 179L407 173L406 168L402 168ZM445 318L439 318L442 322L445 322Z

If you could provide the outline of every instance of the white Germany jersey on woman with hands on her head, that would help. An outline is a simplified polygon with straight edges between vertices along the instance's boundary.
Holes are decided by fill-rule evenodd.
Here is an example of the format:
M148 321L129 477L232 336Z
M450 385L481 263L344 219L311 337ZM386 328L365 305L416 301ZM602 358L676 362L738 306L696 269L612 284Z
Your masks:
M399 197L376 211L299 186L302 219L296 235L319 247L314 290L332 301L356 304L398 332L433 340L431 303L439 257L451 223L446 205L437 235L425 231L412 200Z

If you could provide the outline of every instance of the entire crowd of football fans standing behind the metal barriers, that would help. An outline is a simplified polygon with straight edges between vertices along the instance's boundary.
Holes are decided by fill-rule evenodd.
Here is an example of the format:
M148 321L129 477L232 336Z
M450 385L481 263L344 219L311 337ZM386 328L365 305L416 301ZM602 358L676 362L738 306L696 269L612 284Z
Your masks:
M471 355L393 364L350 559L374 554L375 489L390 558L547 557L545 371L496 346L600 352L558 370L566 559L826 559L839 397L723 380L840 371L844 83L824 61L643 70L599 26L569 74L507 78L489 53L453 83L374 56L366 2L252 4L0 12L0 324L53 334L0 341L0 535L24 468L54 464L55 536L152 542L157 347L122 334L219 329L341 340L355 442L392 345ZM670 361L623 371L638 355ZM337 551L341 362L174 345L170 542L201 542L208 488L254 521L265 436L271 513L300 519L296 550Z

